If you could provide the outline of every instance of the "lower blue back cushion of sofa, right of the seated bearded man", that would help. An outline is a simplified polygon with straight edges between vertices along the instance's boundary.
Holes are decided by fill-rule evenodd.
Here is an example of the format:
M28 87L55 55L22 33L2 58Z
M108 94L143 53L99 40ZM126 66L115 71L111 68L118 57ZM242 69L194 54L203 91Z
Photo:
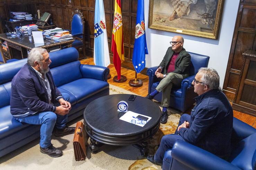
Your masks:
M82 78L80 61L73 61L62 66L52 68L51 73L56 87Z

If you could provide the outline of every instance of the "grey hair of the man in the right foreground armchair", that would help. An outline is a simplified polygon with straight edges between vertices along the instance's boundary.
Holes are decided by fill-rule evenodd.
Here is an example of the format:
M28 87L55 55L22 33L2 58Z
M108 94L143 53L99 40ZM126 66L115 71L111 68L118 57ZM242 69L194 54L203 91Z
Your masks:
M220 86L220 76L213 68L202 67L198 70L202 73L201 82L206 84L209 89L218 89Z

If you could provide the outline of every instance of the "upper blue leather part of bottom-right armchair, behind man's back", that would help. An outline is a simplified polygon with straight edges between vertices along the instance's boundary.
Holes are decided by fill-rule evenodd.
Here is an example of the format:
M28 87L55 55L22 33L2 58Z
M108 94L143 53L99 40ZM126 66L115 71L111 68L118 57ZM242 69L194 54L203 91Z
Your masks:
M254 127L233 117L232 140L240 141L254 133L256 133Z

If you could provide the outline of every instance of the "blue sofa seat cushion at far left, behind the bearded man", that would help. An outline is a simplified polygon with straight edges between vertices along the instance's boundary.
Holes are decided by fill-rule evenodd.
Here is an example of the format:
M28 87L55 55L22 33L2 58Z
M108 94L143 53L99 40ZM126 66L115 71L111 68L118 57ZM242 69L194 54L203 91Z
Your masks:
M0 108L0 138L8 136L20 129L29 126L27 123L20 123L10 113L10 105Z

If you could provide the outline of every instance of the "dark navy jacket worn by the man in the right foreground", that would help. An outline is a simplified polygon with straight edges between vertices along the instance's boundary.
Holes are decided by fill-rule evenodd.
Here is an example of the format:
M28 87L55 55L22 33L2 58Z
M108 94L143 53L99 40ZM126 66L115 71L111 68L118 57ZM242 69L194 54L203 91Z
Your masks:
M226 158L231 150L233 109L219 89L210 90L195 98L189 128L181 128L178 134L185 141Z

